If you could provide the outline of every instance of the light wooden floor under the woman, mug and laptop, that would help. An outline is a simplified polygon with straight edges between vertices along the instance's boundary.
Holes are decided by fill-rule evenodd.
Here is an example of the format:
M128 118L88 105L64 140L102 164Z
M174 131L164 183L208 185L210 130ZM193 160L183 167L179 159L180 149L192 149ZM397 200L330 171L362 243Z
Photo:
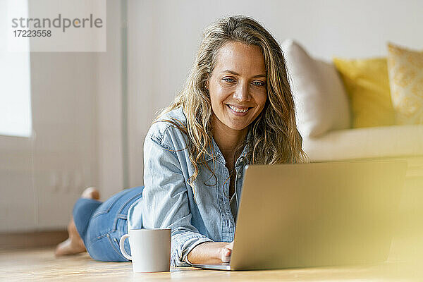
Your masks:
M0 250L0 281L423 281L423 249L396 246L388 261L377 265L268 271L184 267L153 274L133 274L129 262L96 262L86 253L56 258L51 247Z

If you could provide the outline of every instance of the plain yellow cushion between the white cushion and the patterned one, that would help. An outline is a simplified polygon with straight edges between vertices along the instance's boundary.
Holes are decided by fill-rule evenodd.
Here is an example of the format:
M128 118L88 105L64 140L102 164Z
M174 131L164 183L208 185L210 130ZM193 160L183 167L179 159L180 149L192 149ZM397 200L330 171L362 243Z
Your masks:
M350 96L353 128L393 125L386 59L333 58Z

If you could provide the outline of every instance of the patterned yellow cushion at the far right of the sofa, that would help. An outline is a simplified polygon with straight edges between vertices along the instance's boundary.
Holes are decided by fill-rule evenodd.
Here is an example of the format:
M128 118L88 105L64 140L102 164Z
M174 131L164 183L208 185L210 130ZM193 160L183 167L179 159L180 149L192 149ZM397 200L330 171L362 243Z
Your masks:
M388 70L396 123L423 123L423 52L389 43Z

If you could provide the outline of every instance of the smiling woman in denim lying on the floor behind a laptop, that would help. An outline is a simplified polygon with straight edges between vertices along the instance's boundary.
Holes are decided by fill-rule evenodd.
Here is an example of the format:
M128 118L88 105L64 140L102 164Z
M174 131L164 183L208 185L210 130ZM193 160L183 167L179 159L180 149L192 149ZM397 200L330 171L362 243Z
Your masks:
M173 266L228 262L245 166L302 162L301 142L274 37L252 18L218 20L184 90L147 133L145 187L104 203L86 190L56 253L86 248L94 259L125 261L118 240L128 228L171 228Z

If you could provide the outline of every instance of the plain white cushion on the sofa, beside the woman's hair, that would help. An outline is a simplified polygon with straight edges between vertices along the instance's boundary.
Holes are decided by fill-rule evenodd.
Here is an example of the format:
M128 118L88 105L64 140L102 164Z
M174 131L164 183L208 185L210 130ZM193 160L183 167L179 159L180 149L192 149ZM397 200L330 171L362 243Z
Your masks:
M335 66L313 59L292 39L286 39L281 47L302 137L350 128L348 96Z

